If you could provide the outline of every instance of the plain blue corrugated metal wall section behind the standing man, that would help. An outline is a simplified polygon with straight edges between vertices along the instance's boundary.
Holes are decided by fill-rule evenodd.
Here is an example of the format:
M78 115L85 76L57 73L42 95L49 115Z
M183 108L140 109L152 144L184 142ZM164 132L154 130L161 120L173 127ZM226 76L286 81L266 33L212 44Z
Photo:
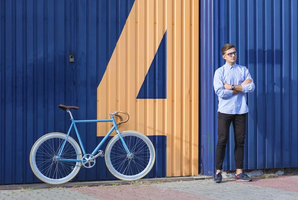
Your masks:
M215 171L218 98L213 75L221 48L236 45L256 89L248 95L245 169L298 167L298 1L202 0L200 4L201 172ZM224 170L234 170L232 128Z

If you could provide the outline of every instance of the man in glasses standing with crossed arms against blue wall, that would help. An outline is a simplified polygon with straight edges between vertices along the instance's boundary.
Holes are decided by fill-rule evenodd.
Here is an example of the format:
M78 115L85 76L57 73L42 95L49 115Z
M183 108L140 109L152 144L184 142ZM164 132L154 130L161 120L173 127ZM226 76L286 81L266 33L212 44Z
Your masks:
M246 93L255 89L254 82L245 66L236 64L237 51L234 45L225 44L222 48L225 64L214 74L214 90L219 98L218 108L218 142L216 148L216 175L214 183L222 182L224 152L229 135L230 124L233 124L235 142L235 165L237 181L252 181L243 168L243 151L245 140Z

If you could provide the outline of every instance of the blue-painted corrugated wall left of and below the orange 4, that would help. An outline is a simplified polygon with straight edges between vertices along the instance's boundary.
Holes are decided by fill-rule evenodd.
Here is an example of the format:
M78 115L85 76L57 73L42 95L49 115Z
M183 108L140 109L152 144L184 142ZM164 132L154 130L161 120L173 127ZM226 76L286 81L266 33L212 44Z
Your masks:
M0 0L0 184L40 182L29 153L39 137L69 128L69 115L58 104L79 106L77 119L96 119L97 87L134 2ZM77 127L91 152L102 139L94 140L96 124ZM165 137L160 141L163 161L147 177L165 176ZM74 180L113 179L104 158L97 161Z

